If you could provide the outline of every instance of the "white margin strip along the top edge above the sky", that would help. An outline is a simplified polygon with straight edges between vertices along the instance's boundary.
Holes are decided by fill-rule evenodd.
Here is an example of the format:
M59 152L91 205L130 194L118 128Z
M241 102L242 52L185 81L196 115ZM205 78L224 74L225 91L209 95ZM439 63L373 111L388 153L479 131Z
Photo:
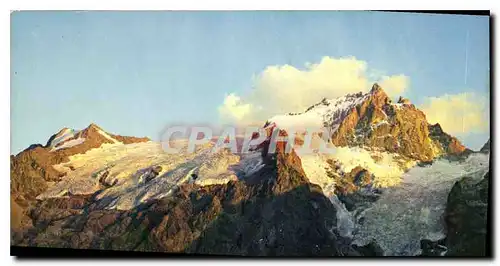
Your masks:
M8 3L10 10L470 10L490 9L494 0L475 0L453 3L448 1L419 0L183 0L183 1L126 1L126 0L18 0Z

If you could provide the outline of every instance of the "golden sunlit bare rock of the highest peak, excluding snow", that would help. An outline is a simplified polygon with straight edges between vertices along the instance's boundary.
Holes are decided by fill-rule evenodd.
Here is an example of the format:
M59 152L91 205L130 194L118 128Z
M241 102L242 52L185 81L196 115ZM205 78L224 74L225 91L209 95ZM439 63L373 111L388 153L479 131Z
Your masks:
M401 98L399 105L392 104L378 84L373 85L360 105L349 111L332 134L332 142L336 146L378 148L420 161L465 150L439 125L429 125L425 114L407 99Z

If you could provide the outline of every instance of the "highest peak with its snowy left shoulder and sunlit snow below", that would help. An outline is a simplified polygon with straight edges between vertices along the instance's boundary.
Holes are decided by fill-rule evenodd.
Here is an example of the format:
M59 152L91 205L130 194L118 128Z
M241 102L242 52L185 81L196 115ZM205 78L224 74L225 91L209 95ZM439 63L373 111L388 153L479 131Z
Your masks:
M428 123L425 114L408 99L400 97L393 103L376 83L367 93L323 99L302 113L271 117L264 125L268 141L276 127L281 135L287 135L291 128L299 132L296 148L302 144L301 129L328 130L326 139L334 148L333 154L299 154L309 179L327 194L360 189L352 182L357 179L349 174L352 171L354 175L360 169L369 172L370 186L394 186L417 164L462 158L471 152L439 124ZM332 185L332 179L342 182Z

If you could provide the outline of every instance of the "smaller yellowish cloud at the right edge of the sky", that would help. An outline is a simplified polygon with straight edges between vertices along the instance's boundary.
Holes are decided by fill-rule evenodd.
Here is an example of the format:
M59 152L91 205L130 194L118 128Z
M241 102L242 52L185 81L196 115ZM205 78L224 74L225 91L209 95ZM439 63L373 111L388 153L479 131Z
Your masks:
M421 110L429 123L439 123L450 134L487 132L489 103L471 92L428 97Z

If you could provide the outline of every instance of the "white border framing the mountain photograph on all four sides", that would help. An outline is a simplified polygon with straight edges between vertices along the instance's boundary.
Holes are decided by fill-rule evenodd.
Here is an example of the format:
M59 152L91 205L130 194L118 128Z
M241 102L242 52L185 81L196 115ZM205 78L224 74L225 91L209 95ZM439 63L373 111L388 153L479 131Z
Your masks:
M1 55L2 64L1 67L1 78L2 81L2 96L0 97L0 125L3 125L0 130L0 149L2 151L3 160L0 160L0 167L3 182L4 200L0 200L1 210L4 211L5 218L1 219L1 251L2 260L8 262L9 264L17 263L14 258L9 257L9 247L10 247L10 220L8 218L9 202L7 201L7 195L9 192L9 164L7 162L7 154L10 154L10 12L12 10L468 10L468 9L491 9L493 13L497 13L500 1L497 0L474 0L474 1L436 1L436 0L419 0L419 1L397 1L397 0L377 0L377 1L359 1L359 0L349 0L349 1L324 1L324 0L307 0L307 1L297 1L297 0L280 0L280 1L270 1L270 0L178 0L178 1L151 1L151 0L140 0L140 1L126 1L126 0L113 0L113 1L103 1L103 0L78 0L78 1L67 1L67 0L18 0L18 1L2 1L1 5L1 20L0 20L0 36L2 36L1 42ZM498 36L498 27L495 28L495 35ZM496 46L498 47L498 45ZM495 48L496 48L495 47ZM496 57L496 54L495 54ZM495 60L498 62L498 60ZM498 77L498 70L495 69L495 77ZM498 106L498 97L495 97L494 104ZM498 123L498 117L495 118L495 122ZM6 127L5 125L8 125ZM493 136L491 136L493 137ZM495 142L496 143L496 142ZM500 144L495 144L495 150L498 150ZM498 156L497 156L498 157ZM495 165L497 165L498 158L495 158ZM500 191L498 187L500 186L500 181L495 179L495 192ZM495 197L496 198L496 197ZM496 202L496 201L495 201ZM495 208L495 213L499 213L500 205L493 204ZM496 220L498 221L498 220ZM498 239L499 228L495 225L496 230L494 239ZM495 252L497 256L500 255L499 245L495 246ZM150 260L147 261L148 264L165 265L165 263L174 263L174 261L163 261L163 260ZM177 261L176 261L177 262ZM187 262L187 261L183 261ZM386 264L386 263L402 263L399 260L313 260L313 261L303 261L303 260L288 260L288 261L252 261L252 260L239 260L237 263L253 263L258 262L259 264L264 263L300 263L311 262L317 265L318 263L325 263L328 265L338 264L343 262L356 263L356 264ZM421 263L422 260L404 260L404 263ZM33 265L55 265L55 264L94 264L103 263L106 265L135 265L138 263L137 260L128 261L77 261L72 260L71 262L58 260L58 261L28 261L23 262L26 264ZM144 263L144 262L140 262ZM235 263L235 261L215 261L215 260L195 260L188 263L196 264L221 264L221 263ZM470 264L470 260L453 260L453 261L430 261L425 260L426 264ZM483 261L474 263L492 263L492 261Z

